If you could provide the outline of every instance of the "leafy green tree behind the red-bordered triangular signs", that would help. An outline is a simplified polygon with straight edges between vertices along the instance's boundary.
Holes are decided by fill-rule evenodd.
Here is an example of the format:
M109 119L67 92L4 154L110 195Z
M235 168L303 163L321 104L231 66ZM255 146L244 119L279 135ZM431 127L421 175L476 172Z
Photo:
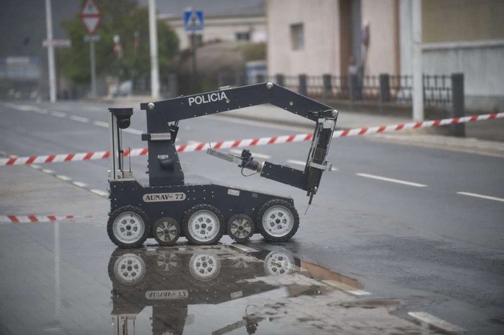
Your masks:
M138 7L136 0L95 0L102 13L96 31L96 72L112 75L120 80L142 76L150 72L149 14L146 7ZM84 1L83 1L84 5ZM59 49L65 75L74 83L89 83L91 78L89 43L84 41L87 31L76 14L73 20L62 23L72 40L70 49ZM169 71L171 58L178 51L178 38L164 21L157 20L159 70ZM139 48L135 48L135 32L139 34ZM122 57L113 53L113 37L119 35Z

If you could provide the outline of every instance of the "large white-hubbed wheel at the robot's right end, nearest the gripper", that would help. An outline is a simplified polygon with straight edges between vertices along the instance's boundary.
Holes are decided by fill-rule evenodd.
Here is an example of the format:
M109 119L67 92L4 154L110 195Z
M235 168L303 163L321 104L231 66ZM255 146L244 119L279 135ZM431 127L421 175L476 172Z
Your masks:
M299 214L294 206L282 199L266 202L257 215L261 235L270 242L290 239L299 228Z

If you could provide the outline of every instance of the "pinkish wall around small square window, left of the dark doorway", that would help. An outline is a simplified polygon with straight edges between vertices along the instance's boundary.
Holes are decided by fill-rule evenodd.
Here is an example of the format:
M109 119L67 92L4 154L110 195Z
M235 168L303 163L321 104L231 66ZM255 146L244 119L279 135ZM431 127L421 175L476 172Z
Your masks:
M340 75L338 5L337 0L267 0L268 73ZM299 23L304 48L293 50L290 26Z

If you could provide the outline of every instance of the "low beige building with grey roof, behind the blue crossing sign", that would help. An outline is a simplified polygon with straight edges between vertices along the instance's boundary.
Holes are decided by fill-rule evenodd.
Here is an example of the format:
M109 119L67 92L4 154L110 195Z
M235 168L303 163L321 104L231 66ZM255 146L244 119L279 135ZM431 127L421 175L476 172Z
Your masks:
M180 40L180 49L191 45L190 35L184 30L180 15L160 14L175 30ZM264 7L233 9L219 13L205 13L205 29L196 33L202 42L216 40L266 42L266 17Z

